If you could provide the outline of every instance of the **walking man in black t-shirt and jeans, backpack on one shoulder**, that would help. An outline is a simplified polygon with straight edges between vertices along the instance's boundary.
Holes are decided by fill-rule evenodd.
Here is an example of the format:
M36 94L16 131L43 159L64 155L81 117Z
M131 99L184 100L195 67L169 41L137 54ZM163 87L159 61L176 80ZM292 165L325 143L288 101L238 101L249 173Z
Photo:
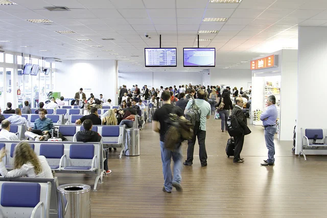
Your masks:
M179 107L171 104L171 96L169 91L164 91L161 94L161 99L164 101L164 105L155 111L152 118L152 129L155 132L160 133L160 147L161 147L161 161L162 161L162 172L164 173L165 184L162 191L172 192L173 186L177 191L182 191L181 182L181 169L182 169L182 151L181 146L178 150L172 152L165 148L165 134L168 130L166 120L168 115L175 109L178 116L183 117L183 112ZM160 128L159 128L160 125ZM171 158L174 161L174 177L172 177L172 170L170 167Z

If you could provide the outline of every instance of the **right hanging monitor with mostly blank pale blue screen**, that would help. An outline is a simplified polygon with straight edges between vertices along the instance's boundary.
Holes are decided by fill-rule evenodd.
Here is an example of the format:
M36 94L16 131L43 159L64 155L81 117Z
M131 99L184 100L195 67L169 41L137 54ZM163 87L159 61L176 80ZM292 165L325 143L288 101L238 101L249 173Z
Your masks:
M184 67L214 67L216 66L216 49L184 47L183 49Z

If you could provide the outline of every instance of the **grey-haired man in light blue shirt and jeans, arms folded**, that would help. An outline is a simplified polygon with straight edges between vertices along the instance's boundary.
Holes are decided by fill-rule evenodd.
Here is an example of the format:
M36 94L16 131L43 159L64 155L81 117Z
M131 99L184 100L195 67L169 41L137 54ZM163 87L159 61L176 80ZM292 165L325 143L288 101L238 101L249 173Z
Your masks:
M274 144L274 136L277 131L276 127L276 119L278 116L278 111L275 106L276 98L274 95L270 95L268 97L268 109L263 112L260 116L260 119L263 121L263 125L265 127L265 140L266 146L268 149L268 160L264 160L262 166L272 166L275 162L275 144Z

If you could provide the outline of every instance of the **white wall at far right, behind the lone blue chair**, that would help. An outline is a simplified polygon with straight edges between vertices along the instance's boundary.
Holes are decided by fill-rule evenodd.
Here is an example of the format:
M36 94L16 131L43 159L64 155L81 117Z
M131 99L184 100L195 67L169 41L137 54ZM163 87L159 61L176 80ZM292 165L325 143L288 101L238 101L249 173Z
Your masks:
M327 81L326 35L325 27L298 27L296 154L301 146L300 128L327 129L327 116L324 115L327 102L324 101L323 95ZM306 150L306 154L327 154L327 151Z

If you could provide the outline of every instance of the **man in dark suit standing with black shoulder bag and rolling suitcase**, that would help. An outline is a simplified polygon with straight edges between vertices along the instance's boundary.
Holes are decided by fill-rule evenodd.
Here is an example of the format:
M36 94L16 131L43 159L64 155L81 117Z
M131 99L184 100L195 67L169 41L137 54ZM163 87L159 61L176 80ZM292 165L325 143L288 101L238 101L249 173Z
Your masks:
M236 116L240 128L243 129L242 134L239 136L235 136L235 151L234 151L234 163L243 163L243 158L240 157L241 151L243 149L243 143L244 143L244 132L248 129L247 127L247 120L243 113L243 99L242 98L236 98L235 100L235 107L231 111L231 115Z

